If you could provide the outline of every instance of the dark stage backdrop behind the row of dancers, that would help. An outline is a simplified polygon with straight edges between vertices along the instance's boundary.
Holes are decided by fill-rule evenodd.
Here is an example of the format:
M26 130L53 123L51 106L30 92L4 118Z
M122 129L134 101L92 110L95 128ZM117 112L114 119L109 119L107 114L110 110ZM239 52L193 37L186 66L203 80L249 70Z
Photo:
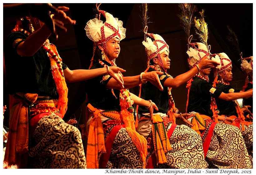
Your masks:
M93 3L53 3L54 6L66 6L70 8L67 15L76 20L76 25L66 25L67 33L58 33L59 39L51 41L57 46L63 62L71 69L88 69L92 57L92 42L86 36L84 30L86 22L94 18ZM148 33L161 35L170 47L171 69L167 72L173 77L189 70L187 64L187 41L185 32L180 25L178 14L180 8L178 3L149 3ZM253 3L200 3L194 4L198 10L205 9L205 21L208 24L211 53L225 52L232 60L234 79L231 85L234 88L242 88L244 76L240 69L239 53L230 44L228 36L229 26L238 36L240 51L244 57L253 55ZM126 69L124 76L139 75L146 69L143 26L140 19L139 3L103 3L101 10L111 13L114 17L124 22L126 38L121 41L121 53L116 59L119 67ZM101 16L101 20L105 20ZM4 23L3 40L15 26L15 21ZM194 30L194 42L199 42ZM4 70L4 69L3 69ZM210 82L213 75L210 76ZM76 118L79 124L85 123L85 82L67 83L68 86L68 110L65 120ZM130 89L130 92L138 95L139 86ZM154 92L152 92L154 93ZM173 89L172 95L176 107L185 113L187 89L186 84L180 88ZM8 107L8 94L6 88L5 72L3 72L3 105ZM5 113L4 125L8 126L8 108ZM177 121L178 124L179 121ZM79 125L78 125L79 126Z

